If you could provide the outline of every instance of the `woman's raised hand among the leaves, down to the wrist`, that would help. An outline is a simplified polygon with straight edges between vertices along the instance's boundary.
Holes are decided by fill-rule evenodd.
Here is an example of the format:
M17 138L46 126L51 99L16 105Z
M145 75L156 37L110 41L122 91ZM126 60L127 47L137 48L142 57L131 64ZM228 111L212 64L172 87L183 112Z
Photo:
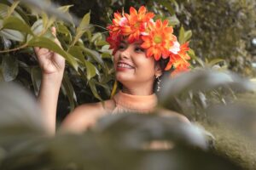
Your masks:
M55 27L51 28L52 34L55 36L55 42L61 47L61 42L56 38ZM39 65L42 69L43 76L63 75L65 69L65 59L47 48L34 48L37 54Z

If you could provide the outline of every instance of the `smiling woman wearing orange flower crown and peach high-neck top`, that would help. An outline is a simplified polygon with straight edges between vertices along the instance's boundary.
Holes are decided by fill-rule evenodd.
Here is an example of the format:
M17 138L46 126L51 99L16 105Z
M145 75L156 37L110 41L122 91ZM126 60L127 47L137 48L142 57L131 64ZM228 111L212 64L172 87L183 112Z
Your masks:
M153 20L154 14L145 7L130 8L130 14L114 14L113 24L108 26L108 42L113 48L113 66L116 80L122 89L113 99L77 107L62 123L62 128L73 132L83 132L95 124L96 120L107 113L137 111L148 113L154 110L157 98L154 94L154 82L159 80L163 71L175 67L175 74L188 70L188 43L180 45L172 34L168 22ZM55 28L52 29L55 35ZM60 42L55 38L60 46ZM38 62L43 72L39 104L44 112L49 133L55 133L55 114L65 60L45 48L35 48ZM167 60L167 65L161 65ZM169 113L184 121L187 119L175 112Z

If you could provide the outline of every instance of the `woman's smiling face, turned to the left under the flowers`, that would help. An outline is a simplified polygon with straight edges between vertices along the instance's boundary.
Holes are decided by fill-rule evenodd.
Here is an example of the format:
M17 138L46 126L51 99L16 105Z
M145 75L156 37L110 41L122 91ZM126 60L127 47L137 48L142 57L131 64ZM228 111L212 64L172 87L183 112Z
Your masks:
M153 57L146 57L142 41L128 43L120 42L119 49L114 54L113 63L116 79L125 86L129 84L154 83L156 68Z

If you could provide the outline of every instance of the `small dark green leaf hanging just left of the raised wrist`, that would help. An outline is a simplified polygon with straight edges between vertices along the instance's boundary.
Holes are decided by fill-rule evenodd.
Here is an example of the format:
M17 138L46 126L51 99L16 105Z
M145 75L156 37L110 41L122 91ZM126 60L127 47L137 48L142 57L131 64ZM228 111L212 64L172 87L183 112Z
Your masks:
M31 69L31 79L32 79L32 84L34 88L34 93L38 95L40 85L41 85L41 79L42 79L42 73L41 69L37 67L32 67Z

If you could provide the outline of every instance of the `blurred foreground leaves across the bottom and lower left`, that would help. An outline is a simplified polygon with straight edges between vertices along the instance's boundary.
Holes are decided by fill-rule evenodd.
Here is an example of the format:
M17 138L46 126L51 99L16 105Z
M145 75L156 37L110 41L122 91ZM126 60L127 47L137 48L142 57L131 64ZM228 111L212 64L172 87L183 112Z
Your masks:
M17 95L8 95L13 93ZM0 99L0 168L4 170L244 169L215 153L201 127L163 116L160 110L108 115L84 134L59 132L47 137L34 110L38 106L24 89L0 84Z

